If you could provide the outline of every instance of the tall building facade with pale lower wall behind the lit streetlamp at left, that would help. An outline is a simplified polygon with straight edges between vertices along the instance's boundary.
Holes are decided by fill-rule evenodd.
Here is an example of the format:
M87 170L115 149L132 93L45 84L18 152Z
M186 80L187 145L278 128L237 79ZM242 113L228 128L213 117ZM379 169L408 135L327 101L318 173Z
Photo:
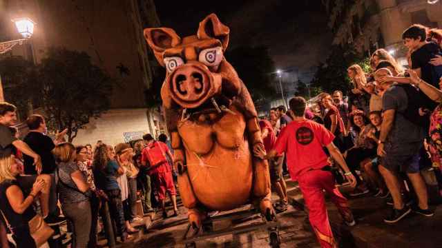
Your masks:
M95 65L117 81L111 110L90 120L75 143L102 139L113 145L125 141L124 133L165 131L155 125L163 122L160 112L146 108L146 91L157 63L147 48L143 29L160 25L153 0L0 0L0 30L5 31L0 32L0 41L19 35L10 21L17 17L35 21L35 32L26 44L3 56L19 55L37 64L48 48L78 50L88 53ZM113 134L108 129L113 129Z

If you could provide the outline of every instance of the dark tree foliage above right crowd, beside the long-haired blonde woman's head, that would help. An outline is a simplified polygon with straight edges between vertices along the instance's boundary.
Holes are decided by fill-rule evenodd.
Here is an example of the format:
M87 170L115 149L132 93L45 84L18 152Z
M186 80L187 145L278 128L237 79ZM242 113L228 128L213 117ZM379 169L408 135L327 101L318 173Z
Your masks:
M324 92L341 90L343 94L347 94L352 89L347 68L355 63L361 65L366 72L369 70L368 59L360 56L352 45L334 45L325 63L318 66L311 85Z

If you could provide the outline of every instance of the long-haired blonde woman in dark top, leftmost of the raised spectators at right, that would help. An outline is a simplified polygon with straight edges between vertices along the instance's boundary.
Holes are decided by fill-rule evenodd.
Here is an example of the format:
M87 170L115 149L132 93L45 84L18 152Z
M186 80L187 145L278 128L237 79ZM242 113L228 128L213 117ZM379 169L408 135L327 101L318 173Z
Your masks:
M353 83L352 94L349 99L349 109L362 109L365 113L369 112L369 94L372 89L367 85L367 77L361 66L354 64L347 69L347 74Z

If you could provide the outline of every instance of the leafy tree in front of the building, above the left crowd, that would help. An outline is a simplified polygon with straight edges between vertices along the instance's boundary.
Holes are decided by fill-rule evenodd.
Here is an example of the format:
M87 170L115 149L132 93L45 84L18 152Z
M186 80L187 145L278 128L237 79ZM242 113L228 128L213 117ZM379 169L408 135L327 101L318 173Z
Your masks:
M39 65L41 106L47 123L56 130L68 129L72 142L78 130L110 107L114 81L86 52L50 48Z

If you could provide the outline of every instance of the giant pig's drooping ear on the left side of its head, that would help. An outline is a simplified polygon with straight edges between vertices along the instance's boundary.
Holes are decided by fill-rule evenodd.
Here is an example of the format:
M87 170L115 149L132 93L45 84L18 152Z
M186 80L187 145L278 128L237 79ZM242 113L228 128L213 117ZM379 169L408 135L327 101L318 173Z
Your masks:
M181 38L171 28L146 28L144 38L152 48L157 61L164 66L163 52L181 43Z

